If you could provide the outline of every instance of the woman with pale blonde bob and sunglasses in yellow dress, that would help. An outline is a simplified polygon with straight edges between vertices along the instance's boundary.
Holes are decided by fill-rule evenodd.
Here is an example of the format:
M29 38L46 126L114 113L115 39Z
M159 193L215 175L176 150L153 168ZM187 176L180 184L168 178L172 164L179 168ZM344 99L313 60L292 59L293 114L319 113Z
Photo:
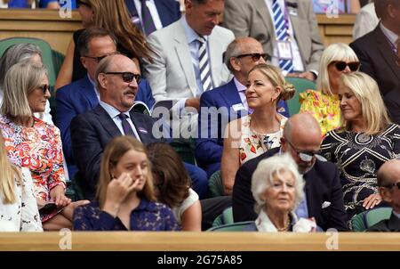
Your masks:
M311 113L318 121L323 136L340 126L340 75L356 71L359 67L360 61L348 45L329 45L321 56L316 79L318 90L307 90L300 94L300 113Z

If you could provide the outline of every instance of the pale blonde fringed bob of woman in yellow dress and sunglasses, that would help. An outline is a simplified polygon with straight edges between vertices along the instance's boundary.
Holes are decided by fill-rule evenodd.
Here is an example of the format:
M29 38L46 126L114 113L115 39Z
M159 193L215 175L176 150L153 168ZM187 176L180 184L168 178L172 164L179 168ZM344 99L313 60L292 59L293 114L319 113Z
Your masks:
M332 95L331 84L329 83L328 67L332 61L358 61L356 53L344 43L328 45L324 49L319 62L319 73L316 78L316 88L323 94Z

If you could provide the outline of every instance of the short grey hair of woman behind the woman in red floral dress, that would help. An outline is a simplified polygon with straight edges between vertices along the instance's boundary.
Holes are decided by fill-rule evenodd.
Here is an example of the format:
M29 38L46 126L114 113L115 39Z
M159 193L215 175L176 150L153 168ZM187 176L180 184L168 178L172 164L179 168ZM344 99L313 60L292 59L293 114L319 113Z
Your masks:
M42 58L39 46L30 43L20 43L10 46L0 58L0 87L4 84L5 73L18 62L28 62L38 54Z

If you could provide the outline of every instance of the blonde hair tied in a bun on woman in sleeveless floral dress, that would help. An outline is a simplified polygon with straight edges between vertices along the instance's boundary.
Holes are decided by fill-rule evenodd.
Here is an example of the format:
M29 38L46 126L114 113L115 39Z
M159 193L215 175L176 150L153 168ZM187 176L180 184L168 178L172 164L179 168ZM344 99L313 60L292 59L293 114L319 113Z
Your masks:
M271 82L272 86L277 87L280 86L282 88L281 94L279 94L279 97L276 98L276 102L279 102L279 100L289 100L293 97L294 93L296 92L296 89L294 86L284 80L284 76L282 75L281 69L268 65L266 63L260 63L253 67L250 71L249 74L252 73L252 71L259 70L262 75L268 78L269 82Z

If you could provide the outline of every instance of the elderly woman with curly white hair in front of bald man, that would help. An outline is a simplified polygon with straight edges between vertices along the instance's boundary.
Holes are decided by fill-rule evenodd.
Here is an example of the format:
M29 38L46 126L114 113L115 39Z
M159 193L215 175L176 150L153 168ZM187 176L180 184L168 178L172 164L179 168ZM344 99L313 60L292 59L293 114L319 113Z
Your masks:
M313 218L298 219L294 213L303 199L303 186L303 178L289 154L261 160L252 174L252 196L259 216L244 231L315 232Z

